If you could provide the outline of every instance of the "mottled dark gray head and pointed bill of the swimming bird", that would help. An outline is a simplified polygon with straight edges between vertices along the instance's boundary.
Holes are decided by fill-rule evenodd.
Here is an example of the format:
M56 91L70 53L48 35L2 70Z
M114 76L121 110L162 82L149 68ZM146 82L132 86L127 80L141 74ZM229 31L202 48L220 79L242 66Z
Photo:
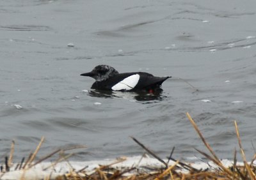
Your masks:
M115 68L108 65L99 65L93 68L92 71L83 73L81 75L92 77L96 81L102 81L108 79L109 77L113 77L116 74L118 74L118 71L116 71Z

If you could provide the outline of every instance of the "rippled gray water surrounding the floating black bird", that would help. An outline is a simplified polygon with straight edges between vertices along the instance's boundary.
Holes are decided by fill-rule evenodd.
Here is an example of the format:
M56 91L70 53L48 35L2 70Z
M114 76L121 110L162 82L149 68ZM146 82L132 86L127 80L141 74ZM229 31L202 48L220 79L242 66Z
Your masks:
M237 120L247 157L255 144L255 1L0 1L0 152L28 156L86 145L75 160L165 158L206 151L233 158ZM68 47L73 43L74 47ZM159 96L90 91L98 64L173 78ZM189 86L184 79L194 87ZM196 91L198 89L198 91ZM83 90L87 90L83 91ZM204 102L202 100L211 100Z

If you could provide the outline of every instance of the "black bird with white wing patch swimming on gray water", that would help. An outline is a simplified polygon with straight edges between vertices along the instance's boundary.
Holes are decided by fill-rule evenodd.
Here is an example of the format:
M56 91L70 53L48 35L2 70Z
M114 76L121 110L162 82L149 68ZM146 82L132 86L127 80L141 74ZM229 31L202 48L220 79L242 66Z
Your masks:
M99 65L82 76L92 77L96 81L91 89L109 91L148 91L153 93L161 89L164 80L170 77L154 77L145 72L118 73L115 68L108 65Z

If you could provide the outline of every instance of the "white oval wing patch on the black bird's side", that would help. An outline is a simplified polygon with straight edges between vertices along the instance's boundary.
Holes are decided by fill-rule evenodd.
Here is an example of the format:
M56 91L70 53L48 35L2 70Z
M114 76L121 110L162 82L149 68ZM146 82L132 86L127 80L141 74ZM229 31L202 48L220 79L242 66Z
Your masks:
M124 80L118 82L118 84L116 84L115 86L113 86L111 89L113 91L129 91L131 89L133 89L139 82L140 79L140 75L136 74L136 75L131 75L127 78L125 78Z

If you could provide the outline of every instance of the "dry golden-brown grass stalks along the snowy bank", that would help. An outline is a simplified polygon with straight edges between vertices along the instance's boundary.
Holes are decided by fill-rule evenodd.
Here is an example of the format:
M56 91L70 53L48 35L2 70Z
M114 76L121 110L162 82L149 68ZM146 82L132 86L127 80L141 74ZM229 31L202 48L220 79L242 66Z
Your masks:
M235 124L235 130L236 130L236 135L237 135L237 140L239 144L239 149L241 152L241 156L243 158L243 164L242 166L237 165L237 152L236 150L234 151L234 160L233 160L233 165L230 167L225 167L223 163L221 163L220 159L218 156L214 153L212 150L212 147L207 143L205 140L204 136L200 132L198 126L196 126L195 121L191 118L189 113L186 114L188 116L189 121L195 128L196 132L198 133L200 139L202 139L202 142L204 143L205 147L207 147L209 153L205 153L203 151L200 151L199 149L196 149L200 154L205 156L209 161L212 161L216 167L215 169L207 169L207 170L198 170L188 163L182 163L180 160L175 160L172 158L173 150L172 153L170 153L170 156L168 160L164 161L157 154L155 154L152 150L148 149L145 147L140 141L135 139L134 137L131 137L134 142L136 142L139 146L141 146L147 154L150 154L156 160L158 160L160 163L163 164L162 167L158 167L157 169L152 169L150 167L139 167L138 165L132 165L132 167L124 167L124 168L119 168L116 169L114 168L114 165L117 165L118 163L121 163L125 161L125 158L120 158L113 163L110 163L109 165L99 165L98 168L88 171L86 170L86 167L80 170L74 170L72 168L72 165L68 162L68 158L73 155L73 153L67 153L67 151L70 151L72 149L77 149L77 148L84 148L85 146L76 146L76 147L71 147L68 149L57 149L56 151L47 154L46 156L40 158L38 161L35 161L35 157L38 154L38 151L40 150L40 147L42 146L42 143L44 142L44 137L42 137L40 143L36 147L34 153L29 154L28 158L22 158L22 161L20 163L17 163L15 165L15 170L23 170L24 174L26 170L29 170L38 163L41 163L44 160L48 160L51 158L54 154L59 154L59 158L52 163L51 166L45 168L44 170L47 169L52 169L56 164L58 164L60 161L66 161L70 165L70 172L68 174L62 174L61 176L58 176L54 179L56 180L85 180L85 179L104 179L104 180L111 180L111 179L255 179L255 173L256 173L256 167L253 165L253 161L256 159L256 154L253 156L253 160L248 163L246 161L246 156L244 154L243 146L241 144L241 139L239 135L239 129L237 126L236 121L234 121ZM14 165L13 164L13 152L14 152L14 145L15 142L14 140L12 141L12 146L11 146L11 151L10 151L10 156L9 158L6 157L4 159L4 165L1 166L1 177L4 175L6 172L10 172L10 168ZM143 158L143 157L141 157ZM169 165L169 161L172 160L173 163L172 165ZM135 164L135 163L134 163ZM21 176L20 179L24 179L24 176ZM51 179L50 176L45 178L45 179Z

